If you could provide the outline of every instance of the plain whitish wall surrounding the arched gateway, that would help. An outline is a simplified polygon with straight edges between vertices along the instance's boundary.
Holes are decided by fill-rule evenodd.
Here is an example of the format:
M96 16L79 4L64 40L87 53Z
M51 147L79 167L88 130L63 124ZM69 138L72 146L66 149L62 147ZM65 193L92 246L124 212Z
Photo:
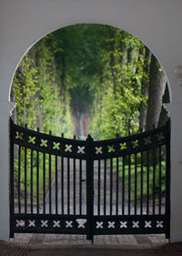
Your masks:
M180 121L182 87L174 70L182 65L181 0L0 0L0 107L7 108L15 67L35 42L77 23L116 26L143 41L158 57L171 87L171 241L182 241ZM9 107L8 107L9 108ZM7 109L8 109L7 108ZM0 240L8 240L7 111L0 111ZM2 185L3 184L3 185Z

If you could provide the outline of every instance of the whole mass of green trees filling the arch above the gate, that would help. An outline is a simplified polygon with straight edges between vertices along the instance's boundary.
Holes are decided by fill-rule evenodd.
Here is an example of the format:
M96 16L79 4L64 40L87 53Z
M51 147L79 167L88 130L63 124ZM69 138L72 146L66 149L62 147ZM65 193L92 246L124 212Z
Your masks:
M111 26L67 26L36 43L17 68L14 118L72 137L78 111L89 116L94 138L115 138L162 125L165 91L156 57L136 37Z

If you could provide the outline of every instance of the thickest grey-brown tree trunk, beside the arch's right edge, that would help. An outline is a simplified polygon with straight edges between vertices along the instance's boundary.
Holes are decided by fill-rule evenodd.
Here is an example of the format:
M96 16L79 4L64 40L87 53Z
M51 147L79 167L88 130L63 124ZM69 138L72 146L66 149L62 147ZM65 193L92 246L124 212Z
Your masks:
M147 122L146 128L151 129L153 125L157 127L160 111L162 107L162 97L165 92L166 77L164 72L159 69L160 66L154 55L151 57L148 104L147 104Z

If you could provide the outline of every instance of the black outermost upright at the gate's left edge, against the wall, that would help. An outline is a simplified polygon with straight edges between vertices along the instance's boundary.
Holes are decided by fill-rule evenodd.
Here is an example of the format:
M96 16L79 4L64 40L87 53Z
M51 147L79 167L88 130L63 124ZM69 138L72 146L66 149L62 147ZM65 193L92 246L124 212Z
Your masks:
M10 169L11 169L11 200L10 200L10 238L14 238L15 213L15 156L14 156L14 122L10 118Z

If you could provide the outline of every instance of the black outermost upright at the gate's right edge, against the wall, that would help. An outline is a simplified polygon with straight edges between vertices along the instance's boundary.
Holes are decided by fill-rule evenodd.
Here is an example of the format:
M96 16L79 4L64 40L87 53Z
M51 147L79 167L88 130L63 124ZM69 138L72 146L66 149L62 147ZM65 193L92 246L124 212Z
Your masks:
M166 144L166 237L170 238L170 119L167 121L167 144Z

